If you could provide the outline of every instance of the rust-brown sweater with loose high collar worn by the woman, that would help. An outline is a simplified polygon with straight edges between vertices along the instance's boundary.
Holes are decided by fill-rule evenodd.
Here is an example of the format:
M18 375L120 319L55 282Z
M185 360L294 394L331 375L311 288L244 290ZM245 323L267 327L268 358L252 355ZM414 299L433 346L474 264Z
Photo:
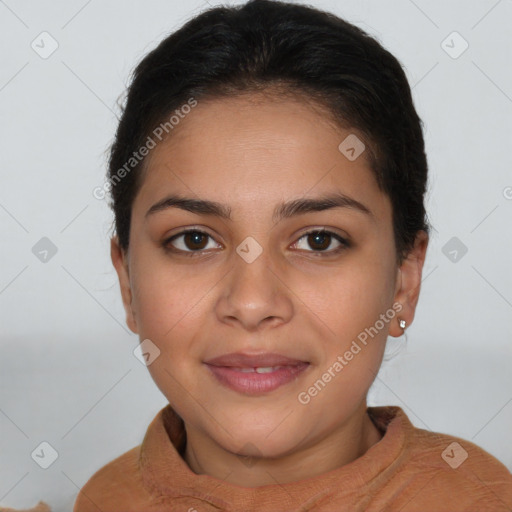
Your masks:
M189 468L183 421L167 405L141 445L89 479L73 512L512 511L512 474L482 448L416 428L400 407L368 414L383 437L358 459L298 482L244 488Z

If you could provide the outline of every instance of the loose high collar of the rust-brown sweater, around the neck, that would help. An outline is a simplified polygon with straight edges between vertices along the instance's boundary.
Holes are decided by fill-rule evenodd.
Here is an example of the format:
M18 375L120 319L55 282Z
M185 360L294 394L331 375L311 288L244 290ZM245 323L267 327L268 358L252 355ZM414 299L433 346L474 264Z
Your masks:
M142 442L139 458L142 479L145 487L157 496L190 496L222 510L266 510L277 500L284 510L299 506L308 510L313 503L334 492L348 495L361 486L370 489L379 485L396 468L398 459L402 458L406 434L413 425L397 406L368 407L367 413L383 437L361 457L313 478L250 488L198 475L189 468L182 457L186 443L184 423L168 404L153 419ZM250 504L254 504L254 509Z

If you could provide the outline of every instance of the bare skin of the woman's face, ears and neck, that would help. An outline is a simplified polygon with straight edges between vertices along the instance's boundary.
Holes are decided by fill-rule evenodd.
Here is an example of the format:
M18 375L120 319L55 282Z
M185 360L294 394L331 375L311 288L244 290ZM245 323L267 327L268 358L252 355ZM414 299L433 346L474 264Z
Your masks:
M161 351L148 366L183 418L184 459L198 474L244 487L288 483L350 463L381 439L366 396L388 335L409 326L428 245L423 231L400 267L389 198L366 154L348 160L342 130L320 107L256 93L199 102L146 161L135 198L130 248L111 257L130 329ZM332 208L275 222L283 201L342 192L373 216ZM171 207L146 216L171 193L231 208L231 220ZM205 231L199 243L179 237ZM304 236L325 227L351 241ZM261 246L252 263L237 246ZM330 240L330 243L329 243ZM357 335L400 303L402 310L307 404L300 392L321 379ZM310 362L296 380L247 396L222 386L203 361L230 352L276 352ZM239 455L253 457L249 465Z

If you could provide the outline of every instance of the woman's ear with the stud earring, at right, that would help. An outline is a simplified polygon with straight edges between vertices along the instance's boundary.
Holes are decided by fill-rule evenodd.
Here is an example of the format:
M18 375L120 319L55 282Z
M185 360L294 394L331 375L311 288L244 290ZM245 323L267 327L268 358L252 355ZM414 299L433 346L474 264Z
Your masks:
M402 309L399 313L397 312L396 320L389 328L389 335L395 338L398 338L404 332L399 326L399 319L405 320L406 328L414 320L414 313L420 296L421 275L427 247L428 234L423 230L418 231L413 249L398 269L394 303L400 303Z

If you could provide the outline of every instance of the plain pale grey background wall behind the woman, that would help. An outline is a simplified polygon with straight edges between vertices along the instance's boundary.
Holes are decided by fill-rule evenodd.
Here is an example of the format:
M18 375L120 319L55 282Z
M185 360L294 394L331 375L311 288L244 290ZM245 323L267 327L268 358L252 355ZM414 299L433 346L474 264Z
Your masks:
M436 230L407 342L390 338L399 352L369 403L399 405L416 426L471 440L512 469L512 2L310 3L397 56L425 122ZM80 486L140 444L166 404L133 355L112 217L92 190L129 72L205 7L0 1L1 505L71 510ZM43 31L58 43L47 58ZM43 237L57 250L46 262ZM44 441L58 452L48 469L31 457Z

